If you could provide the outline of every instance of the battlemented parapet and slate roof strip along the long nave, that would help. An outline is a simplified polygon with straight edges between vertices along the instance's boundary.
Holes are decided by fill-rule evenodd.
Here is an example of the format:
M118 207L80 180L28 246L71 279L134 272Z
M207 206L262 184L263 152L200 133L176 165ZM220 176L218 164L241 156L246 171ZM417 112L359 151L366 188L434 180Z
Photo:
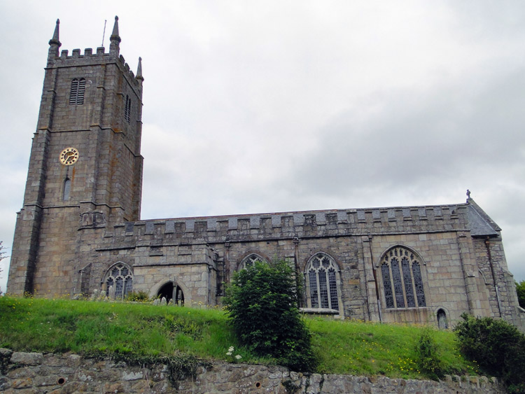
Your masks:
M467 210L468 204L454 204L140 220L116 225L105 238L214 243L468 231Z

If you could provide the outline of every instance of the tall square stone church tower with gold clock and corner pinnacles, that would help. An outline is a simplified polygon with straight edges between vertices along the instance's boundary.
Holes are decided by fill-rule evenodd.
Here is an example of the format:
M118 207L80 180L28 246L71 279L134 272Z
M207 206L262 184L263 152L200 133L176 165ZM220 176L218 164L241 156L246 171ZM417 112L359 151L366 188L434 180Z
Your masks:
M43 92L18 213L8 293L73 291L78 230L140 218L141 59L137 75L119 54L118 17L104 47L59 53L49 41Z

